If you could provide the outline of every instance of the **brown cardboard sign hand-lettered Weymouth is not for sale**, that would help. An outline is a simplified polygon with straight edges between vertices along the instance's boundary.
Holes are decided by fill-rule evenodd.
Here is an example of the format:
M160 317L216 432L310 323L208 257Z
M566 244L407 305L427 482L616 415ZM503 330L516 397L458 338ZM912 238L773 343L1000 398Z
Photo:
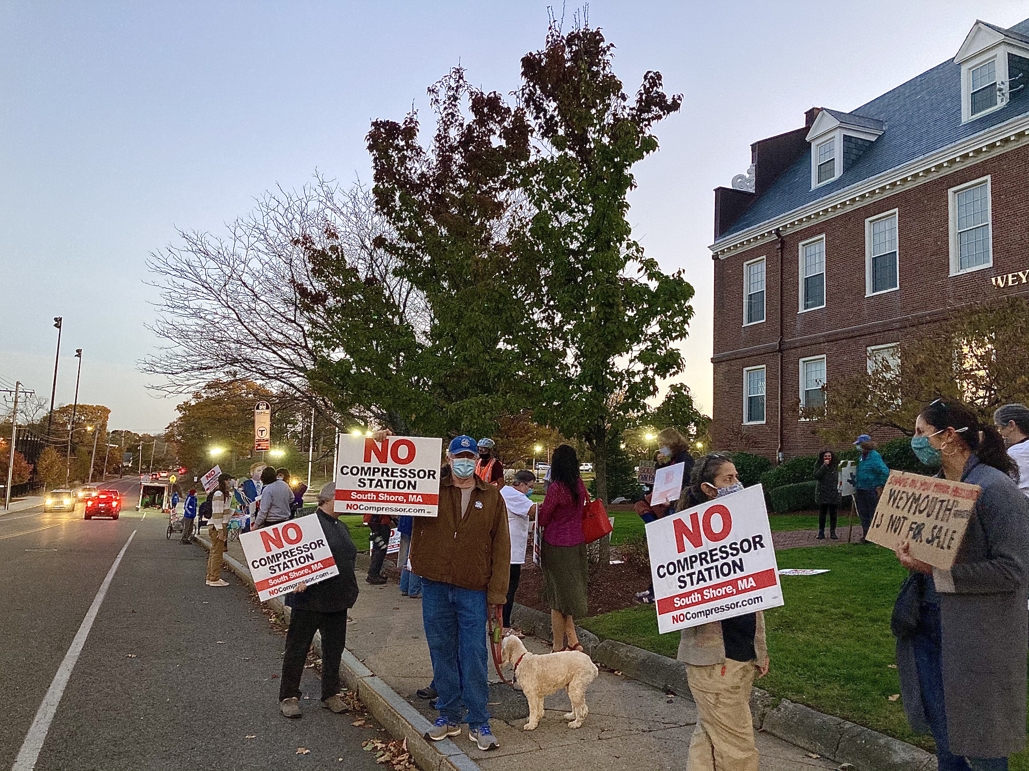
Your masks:
M887 549L911 544L911 555L949 571L954 564L980 486L891 471L866 538Z

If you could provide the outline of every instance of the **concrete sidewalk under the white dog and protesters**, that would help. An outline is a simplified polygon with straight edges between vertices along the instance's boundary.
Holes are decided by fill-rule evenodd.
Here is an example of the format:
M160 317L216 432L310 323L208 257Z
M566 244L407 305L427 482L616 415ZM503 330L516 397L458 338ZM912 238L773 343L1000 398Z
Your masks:
M362 562L364 560L361 560ZM365 562L366 564L366 562ZM390 688L430 719L437 713L415 691L432 680L432 665L422 628L421 600L401 597L398 586L364 583L351 611L347 648ZM526 637L534 653L549 647ZM564 692L546 699L546 714L532 732L522 730L529 714L525 697L499 682L490 662L491 726L500 748L478 750L464 735L455 737L468 757L487 771L568 771L570 768L652 771L682 769L697 723L694 702L619 674L601 671L590 686L590 715L582 728L571 730L561 720L571 705ZM507 675L508 672L505 672ZM757 734L762 771L833 769L837 764L768 734Z

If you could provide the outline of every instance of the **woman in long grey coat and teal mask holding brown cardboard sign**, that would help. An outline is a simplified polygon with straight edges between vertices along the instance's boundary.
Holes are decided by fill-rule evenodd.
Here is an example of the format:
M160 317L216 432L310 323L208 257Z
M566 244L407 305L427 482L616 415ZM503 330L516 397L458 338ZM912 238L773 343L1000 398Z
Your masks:
M959 402L925 407L911 446L944 478L981 491L950 570L916 559L910 545L896 552L918 577L891 624L904 710L912 729L932 732L942 771L1006 769L1026 739L1029 501L996 429Z

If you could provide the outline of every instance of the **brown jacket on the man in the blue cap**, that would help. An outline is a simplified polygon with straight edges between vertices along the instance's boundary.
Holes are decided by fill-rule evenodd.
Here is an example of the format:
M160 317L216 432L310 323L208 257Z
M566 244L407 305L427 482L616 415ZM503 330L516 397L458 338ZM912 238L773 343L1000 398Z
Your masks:
M461 489L450 476L439 481L438 516L415 517L411 567L416 576L485 591L487 602L503 604L510 555L504 499L478 477L463 517Z

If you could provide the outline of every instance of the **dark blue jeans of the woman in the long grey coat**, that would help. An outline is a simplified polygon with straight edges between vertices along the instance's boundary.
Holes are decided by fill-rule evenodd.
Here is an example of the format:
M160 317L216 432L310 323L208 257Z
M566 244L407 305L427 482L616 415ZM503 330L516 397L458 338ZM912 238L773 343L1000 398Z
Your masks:
M1007 771L1006 758L963 758L950 750L947 710L944 705L944 667L941 651L939 611L923 607L922 625L915 634L915 664L922 687L922 706L936 740L939 771Z

